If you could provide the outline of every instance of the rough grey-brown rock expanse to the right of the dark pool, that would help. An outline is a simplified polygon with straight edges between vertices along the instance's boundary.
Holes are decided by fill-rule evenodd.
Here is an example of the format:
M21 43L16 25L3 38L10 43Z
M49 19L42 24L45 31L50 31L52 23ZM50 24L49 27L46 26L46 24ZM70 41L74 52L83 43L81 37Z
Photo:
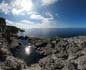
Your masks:
M46 44L45 44L46 40ZM40 41L40 42L37 42ZM85 70L86 37L37 40L35 46L42 55L39 70ZM35 70L35 69L34 69Z

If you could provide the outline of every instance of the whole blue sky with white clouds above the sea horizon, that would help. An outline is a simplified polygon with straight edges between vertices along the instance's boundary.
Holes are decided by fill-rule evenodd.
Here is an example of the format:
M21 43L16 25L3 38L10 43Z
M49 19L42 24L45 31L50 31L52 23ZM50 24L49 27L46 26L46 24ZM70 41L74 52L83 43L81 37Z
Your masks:
M7 25L29 28L85 28L86 0L0 0Z

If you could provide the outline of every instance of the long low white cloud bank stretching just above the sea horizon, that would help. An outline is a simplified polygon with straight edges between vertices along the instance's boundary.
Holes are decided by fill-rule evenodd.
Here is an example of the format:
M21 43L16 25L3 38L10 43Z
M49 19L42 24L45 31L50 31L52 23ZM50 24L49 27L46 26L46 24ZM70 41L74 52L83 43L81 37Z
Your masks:
M55 28L56 27L56 24L54 24L54 22L51 23L47 19L41 21L41 23L36 23L36 24L30 20L22 20L19 22L13 22L13 21L7 20L6 22L7 22L7 25L16 26L18 28L25 29L25 30L29 28Z

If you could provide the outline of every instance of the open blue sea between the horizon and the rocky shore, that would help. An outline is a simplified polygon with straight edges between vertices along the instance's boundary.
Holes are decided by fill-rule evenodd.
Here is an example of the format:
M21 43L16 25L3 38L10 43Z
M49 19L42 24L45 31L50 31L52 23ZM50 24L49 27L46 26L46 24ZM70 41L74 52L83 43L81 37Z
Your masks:
M86 36L86 28L32 28L25 34L32 37Z

